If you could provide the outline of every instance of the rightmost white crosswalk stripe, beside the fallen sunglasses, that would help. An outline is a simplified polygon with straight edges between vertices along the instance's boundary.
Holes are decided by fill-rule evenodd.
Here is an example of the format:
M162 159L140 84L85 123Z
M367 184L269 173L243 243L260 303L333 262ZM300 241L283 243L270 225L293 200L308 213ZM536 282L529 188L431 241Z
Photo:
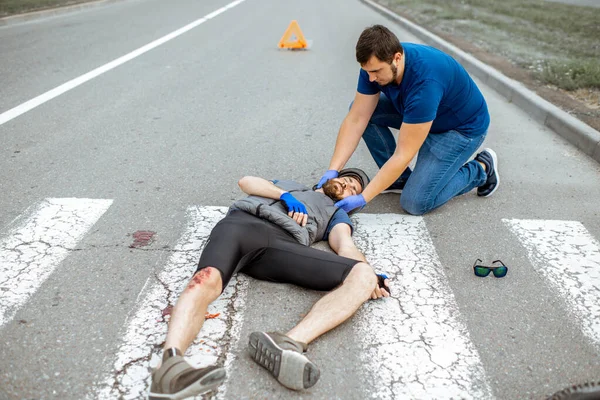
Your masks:
M536 271L561 294L584 334L600 346L600 243L577 221L502 221Z

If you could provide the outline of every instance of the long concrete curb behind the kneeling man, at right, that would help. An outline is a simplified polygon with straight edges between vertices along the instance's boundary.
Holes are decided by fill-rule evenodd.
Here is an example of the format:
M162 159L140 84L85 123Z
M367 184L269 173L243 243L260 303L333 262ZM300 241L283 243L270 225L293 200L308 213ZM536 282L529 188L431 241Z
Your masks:
M479 61L453 44L427 31L425 28L399 16L372 0L360 1L398 23L423 42L450 54L469 73L496 90L509 102L514 103L527 112L533 119L552 129L600 163L600 132L569 115L554 104L544 100L527 89L522 83L503 75L497 69Z

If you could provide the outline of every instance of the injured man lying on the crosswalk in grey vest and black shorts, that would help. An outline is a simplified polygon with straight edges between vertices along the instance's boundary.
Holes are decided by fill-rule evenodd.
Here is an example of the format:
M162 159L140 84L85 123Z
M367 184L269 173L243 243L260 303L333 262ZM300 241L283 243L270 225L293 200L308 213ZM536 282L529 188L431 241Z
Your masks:
M348 214L333 205L360 194L367 183L367 175L357 168L340 171L320 189L252 176L240 179L240 188L258 206L249 213L236 202L211 231L198 268L171 313L162 365L152 373L150 399L195 396L223 382L224 368L194 368L183 354L200 332L208 305L237 272L331 291L286 334L253 332L249 338L253 360L282 385L294 390L313 386L320 372L303 354L308 343L350 318L369 298L389 296L387 277L375 275L352 240ZM314 215L307 215L307 209ZM335 254L301 244L289 231L291 221L294 229L317 225L314 241L327 240Z

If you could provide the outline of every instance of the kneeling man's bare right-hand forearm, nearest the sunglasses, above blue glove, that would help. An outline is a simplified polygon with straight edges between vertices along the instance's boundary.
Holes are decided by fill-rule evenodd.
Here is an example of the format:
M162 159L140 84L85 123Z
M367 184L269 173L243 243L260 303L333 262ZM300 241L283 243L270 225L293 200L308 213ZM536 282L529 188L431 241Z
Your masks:
M417 154L429 134L433 121L421 124L403 123L398 133L396 151L373 177L362 195L368 203L398 179Z

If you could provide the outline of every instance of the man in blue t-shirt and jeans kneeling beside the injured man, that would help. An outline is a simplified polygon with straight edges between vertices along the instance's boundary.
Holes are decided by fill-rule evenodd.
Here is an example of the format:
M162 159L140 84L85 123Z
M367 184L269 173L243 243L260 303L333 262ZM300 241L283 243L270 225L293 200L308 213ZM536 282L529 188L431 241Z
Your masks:
M484 149L469 161L490 124L487 105L456 60L433 47L400 43L381 25L362 32L356 59L357 93L317 187L338 175L362 136L380 170L361 194L338 207L363 207L380 193L401 191L402 208L422 215L474 188L478 196L494 193L496 153ZM399 129L397 145L390 127Z

